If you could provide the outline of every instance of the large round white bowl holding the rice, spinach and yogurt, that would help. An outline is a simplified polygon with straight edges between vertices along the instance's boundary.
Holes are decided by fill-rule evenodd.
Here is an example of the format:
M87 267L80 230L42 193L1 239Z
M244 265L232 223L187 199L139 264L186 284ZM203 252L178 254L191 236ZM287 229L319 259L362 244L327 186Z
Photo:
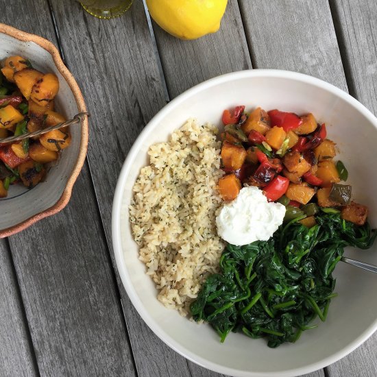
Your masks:
M209 325L198 325L156 298L145 265L138 260L132 239L128 206L132 186L141 167L147 165L149 145L167 141L169 134L189 117L200 123L220 125L223 109L236 105L261 106L298 114L313 112L328 125L347 167L354 198L369 206L369 221L377 225L376 164L377 119L356 99L316 78L287 71L253 70L208 80L174 99L145 127L125 160L112 208L112 239L122 282L136 310L162 341L191 361L232 376L297 376L334 363L361 345L377 328L377 279L349 265L337 266L339 297L332 300L328 319L308 330L295 344L270 349L263 339L230 333L225 343ZM373 250L346 254L377 264Z

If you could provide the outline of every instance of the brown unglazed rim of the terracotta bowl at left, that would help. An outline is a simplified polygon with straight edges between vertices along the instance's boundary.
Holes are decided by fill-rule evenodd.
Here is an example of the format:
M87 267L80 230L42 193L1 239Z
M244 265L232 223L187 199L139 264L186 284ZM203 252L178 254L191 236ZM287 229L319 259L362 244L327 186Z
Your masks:
M58 49L55 47L55 45L53 45L52 42L45 38L42 38L41 36L36 36L35 34L23 32L19 29L16 29L15 27L5 25L3 23L0 23L0 33L21 40L22 42L34 42L39 47L42 47L42 49L45 49L45 51L47 51L51 55L53 62L56 65L56 68L71 88L79 112L86 112L86 105L81 90L71 72L69 72L69 70L64 65L62 58L60 58L60 53ZM55 204L53 204L53 206L47 208L46 210L42 210L41 212L38 212L36 215L29 217L29 219L26 219L21 223L16 224L15 226L11 226L9 228L0 230L0 238L21 232L21 230L26 229L27 227L36 223L36 221L56 214L68 204L69 199L71 199L73 184L75 184L77 177L80 174L80 171L85 162L86 151L88 149L88 130L88 117L84 117L84 119L81 121L81 143L79 153L77 155L77 160L75 166L73 167L71 175L66 181L66 186L64 187L64 191L60 196L60 199L58 199L58 202L56 202Z

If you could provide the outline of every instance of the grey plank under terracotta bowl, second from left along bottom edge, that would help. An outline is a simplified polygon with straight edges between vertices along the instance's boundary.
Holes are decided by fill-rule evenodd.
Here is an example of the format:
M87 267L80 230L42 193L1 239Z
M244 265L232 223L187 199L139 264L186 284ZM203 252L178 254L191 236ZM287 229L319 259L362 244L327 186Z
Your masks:
M47 1L13 0L0 21L56 42ZM85 165L69 206L10 237L42 376L132 376L132 352Z

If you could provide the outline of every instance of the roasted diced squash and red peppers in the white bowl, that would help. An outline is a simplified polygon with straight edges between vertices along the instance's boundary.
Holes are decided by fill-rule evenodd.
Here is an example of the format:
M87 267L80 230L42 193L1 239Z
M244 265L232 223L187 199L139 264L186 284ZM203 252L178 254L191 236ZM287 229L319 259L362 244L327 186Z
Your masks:
M257 186L267 199L287 206L287 219L302 215L309 228L318 208L335 207L341 218L356 225L367 219L367 207L352 202L352 188L341 184L348 171L327 138L326 125L314 115L245 106L223 112L221 161L226 175L219 180L224 200L237 197L243 186ZM310 208L310 210L308 210Z

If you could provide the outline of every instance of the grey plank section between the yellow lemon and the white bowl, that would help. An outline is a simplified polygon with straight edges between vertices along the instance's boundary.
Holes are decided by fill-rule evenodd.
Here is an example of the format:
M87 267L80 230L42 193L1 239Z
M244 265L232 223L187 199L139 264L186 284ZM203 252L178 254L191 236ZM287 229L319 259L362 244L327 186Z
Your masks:
M236 0L228 2L219 32L197 40L180 40L153 25L171 99L212 77L252 68Z

